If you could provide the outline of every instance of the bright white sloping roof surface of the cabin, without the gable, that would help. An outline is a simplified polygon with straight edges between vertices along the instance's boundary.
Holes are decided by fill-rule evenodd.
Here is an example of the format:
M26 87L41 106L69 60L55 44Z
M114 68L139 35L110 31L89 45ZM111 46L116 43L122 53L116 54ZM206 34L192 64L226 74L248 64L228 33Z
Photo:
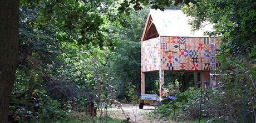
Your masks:
M213 31L213 25L206 24L204 28L192 32L189 24L191 17L186 16L181 10L150 9L149 14L160 36L208 37L208 35L204 35L204 32Z

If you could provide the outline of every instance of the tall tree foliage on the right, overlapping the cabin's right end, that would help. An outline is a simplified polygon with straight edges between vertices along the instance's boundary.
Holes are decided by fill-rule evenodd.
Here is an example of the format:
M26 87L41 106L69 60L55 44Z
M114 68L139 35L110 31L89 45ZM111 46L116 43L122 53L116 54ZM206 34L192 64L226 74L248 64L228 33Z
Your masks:
M220 82L232 85L229 90L225 90L227 93L240 92L240 95L244 94L240 89L247 91L244 97L248 97L250 110L254 112L256 118L255 6L255 1L205 0L189 4L183 10L193 17L191 24L195 29L198 29L205 21L215 24L216 30L209 34L216 35L222 40L218 56L221 68L217 72L220 78L227 78L221 79ZM236 96L238 99L239 95ZM239 105L239 102L235 100L232 102Z

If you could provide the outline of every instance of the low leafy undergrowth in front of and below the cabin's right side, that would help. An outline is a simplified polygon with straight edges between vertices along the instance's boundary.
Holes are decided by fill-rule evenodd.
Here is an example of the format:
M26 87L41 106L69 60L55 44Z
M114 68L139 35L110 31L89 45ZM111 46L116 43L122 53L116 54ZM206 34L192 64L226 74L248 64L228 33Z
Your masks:
M252 122L252 112L247 90L230 91L225 90L230 86L240 88L239 85L223 85L219 88L202 91L201 116L200 122ZM237 97L241 94L242 96ZM204 96L203 96L204 95ZM183 100L179 97L185 97ZM230 104L227 100L237 99L233 102L239 106ZM164 101L164 100L163 100ZM200 112L200 89L190 88L184 93L180 93L176 100L170 101L158 107L156 111L147 114L147 117L154 119L164 119L179 122L198 122ZM229 115L227 115L229 114ZM230 117L233 116L233 117ZM234 117L236 116L236 117Z

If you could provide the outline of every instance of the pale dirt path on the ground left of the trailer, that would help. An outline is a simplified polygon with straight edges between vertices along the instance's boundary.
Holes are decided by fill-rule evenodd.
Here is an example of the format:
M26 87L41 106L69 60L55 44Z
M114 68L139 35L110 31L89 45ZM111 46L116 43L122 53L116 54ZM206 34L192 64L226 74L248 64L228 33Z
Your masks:
M146 116L149 112L155 110L154 106L144 106L143 109L139 109L139 105L132 106L131 104L122 105L124 112L130 117L131 122L149 123L149 122L168 122L160 121L159 119L153 119ZM110 117L115 119L126 119L121 109L117 107L109 109ZM136 120L135 120L136 119Z

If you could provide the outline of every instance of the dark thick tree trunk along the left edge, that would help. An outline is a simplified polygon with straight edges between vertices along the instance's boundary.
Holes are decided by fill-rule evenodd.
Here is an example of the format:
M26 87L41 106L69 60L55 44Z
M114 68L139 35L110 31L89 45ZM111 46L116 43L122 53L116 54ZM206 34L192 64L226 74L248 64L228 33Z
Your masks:
M8 121L18 59L19 1L0 2L0 122Z

